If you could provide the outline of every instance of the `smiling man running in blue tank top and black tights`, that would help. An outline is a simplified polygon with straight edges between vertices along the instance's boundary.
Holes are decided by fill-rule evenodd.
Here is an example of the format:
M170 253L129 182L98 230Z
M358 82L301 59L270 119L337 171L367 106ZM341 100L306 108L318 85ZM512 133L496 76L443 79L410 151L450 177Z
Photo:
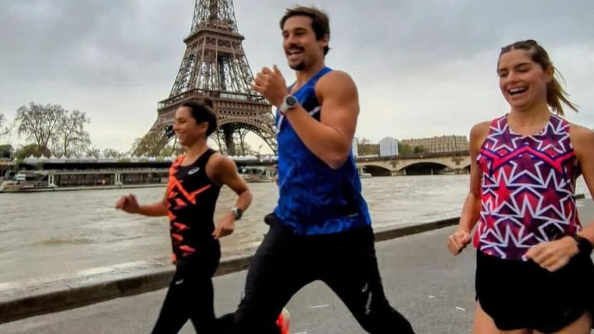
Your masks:
M288 89L276 66L254 90L276 106L280 198L270 231L249 265L233 333L279 333L279 313L312 281L326 283L369 333L413 333L384 295L374 234L351 154L359 102L348 74L324 64L328 17L295 7L280 20L296 81Z

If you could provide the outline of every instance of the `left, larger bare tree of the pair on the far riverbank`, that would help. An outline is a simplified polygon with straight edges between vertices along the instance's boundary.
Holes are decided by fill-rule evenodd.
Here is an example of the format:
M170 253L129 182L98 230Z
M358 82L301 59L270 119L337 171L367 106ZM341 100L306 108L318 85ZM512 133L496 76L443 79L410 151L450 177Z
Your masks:
M39 150L49 156L49 145L58 136L58 130L66 111L59 105L37 105L33 102L29 106L17 109L15 122L18 122L18 136L34 140Z

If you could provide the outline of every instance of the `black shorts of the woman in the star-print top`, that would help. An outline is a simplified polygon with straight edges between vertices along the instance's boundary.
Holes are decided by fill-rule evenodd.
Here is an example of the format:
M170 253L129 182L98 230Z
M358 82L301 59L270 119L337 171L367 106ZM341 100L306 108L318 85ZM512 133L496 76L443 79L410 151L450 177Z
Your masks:
M592 312L593 284L594 264L584 254L551 273L534 261L504 260L477 251L476 300L500 330L557 332Z

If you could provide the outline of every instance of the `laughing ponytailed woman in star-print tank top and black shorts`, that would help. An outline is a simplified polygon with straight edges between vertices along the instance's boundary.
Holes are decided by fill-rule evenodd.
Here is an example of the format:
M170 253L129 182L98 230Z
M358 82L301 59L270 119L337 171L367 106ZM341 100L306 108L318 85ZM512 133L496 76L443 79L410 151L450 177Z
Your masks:
M477 248L475 333L592 328L594 224L580 223L574 191L580 175L594 190L594 132L563 118L563 104L577 108L555 71L534 40L502 48L511 110L470 131L470 191L448 248Z

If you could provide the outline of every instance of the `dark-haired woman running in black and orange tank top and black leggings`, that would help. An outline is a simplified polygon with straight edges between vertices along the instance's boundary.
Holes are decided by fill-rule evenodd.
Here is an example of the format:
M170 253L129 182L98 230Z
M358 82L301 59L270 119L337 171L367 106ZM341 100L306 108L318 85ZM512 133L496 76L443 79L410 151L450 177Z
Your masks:
M177 333L188 319L200 334L216 332L212 276L219 266L219 238L233 232L235 220L252 200L235 163L207 146L206 139L216 127L210 100L182 104L175 112L173 130L187 150L172 163L165 197L139 205L130 194L116 203L116 208L128 213L169 217L176 271L153 333ZM239 198L215 226L214 208L222 185Z

